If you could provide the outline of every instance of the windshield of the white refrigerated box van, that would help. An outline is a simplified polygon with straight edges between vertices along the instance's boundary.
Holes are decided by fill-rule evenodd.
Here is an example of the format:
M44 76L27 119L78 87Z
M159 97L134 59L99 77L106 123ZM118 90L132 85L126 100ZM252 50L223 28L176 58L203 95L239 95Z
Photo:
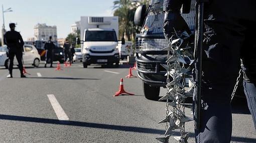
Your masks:
M86 31L85 41L117 41L115 31Z

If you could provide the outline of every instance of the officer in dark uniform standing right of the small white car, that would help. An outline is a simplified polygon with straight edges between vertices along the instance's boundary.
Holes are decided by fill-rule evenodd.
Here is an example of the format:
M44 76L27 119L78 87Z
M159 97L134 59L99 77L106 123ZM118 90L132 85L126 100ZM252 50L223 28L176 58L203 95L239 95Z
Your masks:
M50 67L52 66L53 63L53 49L55 48L55 44L52 41L52 36L49 37L49 40L47 43L45 43L44 48L47 50L46 53L46 60L45 60L45 67L47 63L51 63Z

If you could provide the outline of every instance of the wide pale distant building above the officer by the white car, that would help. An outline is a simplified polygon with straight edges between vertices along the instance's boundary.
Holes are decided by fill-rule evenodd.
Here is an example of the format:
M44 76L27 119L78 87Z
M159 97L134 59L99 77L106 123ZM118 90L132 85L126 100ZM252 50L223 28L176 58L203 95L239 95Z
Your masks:
M49 36L52 36L52 40L57 41L57 27L48 26L45 23L38 23L34 27L35 37L37 40L49 40Z

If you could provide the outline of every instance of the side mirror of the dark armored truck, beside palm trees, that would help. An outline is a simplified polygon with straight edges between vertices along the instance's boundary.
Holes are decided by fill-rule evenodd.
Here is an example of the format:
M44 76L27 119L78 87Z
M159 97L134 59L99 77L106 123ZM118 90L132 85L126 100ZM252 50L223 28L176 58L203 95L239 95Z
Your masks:
M140 5L136 11L135 11L135 14L134 14L134 23L138 26L142 26L143 25L143 22L144 22L144 19L145 19L145 14L146 14L146 5L143 4L143 5Z

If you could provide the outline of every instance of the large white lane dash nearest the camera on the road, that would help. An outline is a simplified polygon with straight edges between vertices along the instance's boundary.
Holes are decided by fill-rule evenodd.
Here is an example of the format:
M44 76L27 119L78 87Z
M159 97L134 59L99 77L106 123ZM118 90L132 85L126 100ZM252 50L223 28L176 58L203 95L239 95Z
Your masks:
M47 94L52 107L58 117L59 120L69 120L67 114L65 113L65 111L63 110L63 108L61 107L61 105L59 104L59 102L57 101L57 99L55 98L54 94Z

